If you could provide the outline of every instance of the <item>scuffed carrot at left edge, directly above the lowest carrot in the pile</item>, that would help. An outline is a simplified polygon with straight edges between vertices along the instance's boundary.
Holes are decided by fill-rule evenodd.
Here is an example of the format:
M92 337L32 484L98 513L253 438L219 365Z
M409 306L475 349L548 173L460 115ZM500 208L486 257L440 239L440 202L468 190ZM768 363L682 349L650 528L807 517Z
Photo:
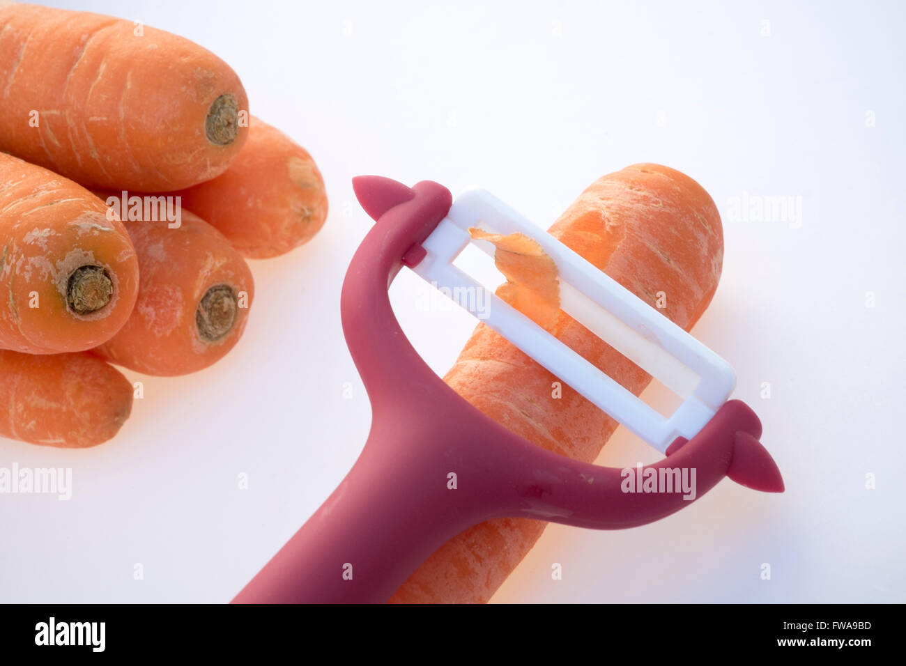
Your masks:
M0 153L0 348L91 349L126 323L138 288L129 234L101 201Z

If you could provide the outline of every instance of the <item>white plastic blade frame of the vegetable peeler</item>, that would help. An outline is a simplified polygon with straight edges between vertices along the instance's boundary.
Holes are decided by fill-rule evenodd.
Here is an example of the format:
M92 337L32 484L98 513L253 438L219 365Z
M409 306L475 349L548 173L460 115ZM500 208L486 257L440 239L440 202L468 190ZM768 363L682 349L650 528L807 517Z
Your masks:
M534 239L559 271L561 309L684 398L679 408L664 418L453 265L473 242L494 256L495 247L473 241L469 227ZM728 362L486 190L461 194L422 247L428 255L413 269L417 274L446 287L471 314L661 452L678 437L695 437L733 391L736 376ZM480 313L479 303L487 304Z

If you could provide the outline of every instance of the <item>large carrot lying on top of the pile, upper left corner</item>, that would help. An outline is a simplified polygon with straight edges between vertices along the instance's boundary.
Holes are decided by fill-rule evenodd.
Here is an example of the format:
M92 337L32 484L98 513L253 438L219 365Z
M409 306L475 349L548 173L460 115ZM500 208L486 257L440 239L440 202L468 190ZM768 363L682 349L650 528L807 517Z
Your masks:
M83 185L188 188L246 138L236 72L175 34L0 3L0 150Z

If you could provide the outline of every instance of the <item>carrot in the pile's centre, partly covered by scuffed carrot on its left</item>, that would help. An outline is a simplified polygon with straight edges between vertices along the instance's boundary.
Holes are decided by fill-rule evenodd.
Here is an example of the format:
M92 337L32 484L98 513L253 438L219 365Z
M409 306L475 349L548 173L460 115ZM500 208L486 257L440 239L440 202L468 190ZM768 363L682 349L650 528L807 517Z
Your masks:
M129 321L94 352L138 372L179 375L207 368L246 327L252 274L229 241L181 211L180 225L126 222L139 255L139 298Z

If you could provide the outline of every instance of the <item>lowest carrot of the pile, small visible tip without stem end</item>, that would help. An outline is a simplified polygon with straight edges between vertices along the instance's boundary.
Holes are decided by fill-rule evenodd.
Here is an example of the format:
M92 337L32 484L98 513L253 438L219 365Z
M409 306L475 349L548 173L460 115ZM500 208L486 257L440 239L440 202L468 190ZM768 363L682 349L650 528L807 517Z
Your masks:
M90 353L0 351L0 437L93 447L129 418L132 385Z

